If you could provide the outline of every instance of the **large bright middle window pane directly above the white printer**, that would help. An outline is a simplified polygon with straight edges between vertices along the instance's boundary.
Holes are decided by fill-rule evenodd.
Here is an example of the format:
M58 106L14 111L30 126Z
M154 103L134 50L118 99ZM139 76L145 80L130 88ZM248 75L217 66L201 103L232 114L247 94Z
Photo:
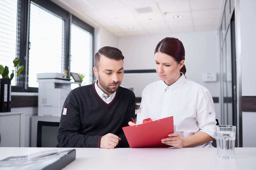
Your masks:
M38 87L37 73L64 71L64 21L31 3L28 86Z

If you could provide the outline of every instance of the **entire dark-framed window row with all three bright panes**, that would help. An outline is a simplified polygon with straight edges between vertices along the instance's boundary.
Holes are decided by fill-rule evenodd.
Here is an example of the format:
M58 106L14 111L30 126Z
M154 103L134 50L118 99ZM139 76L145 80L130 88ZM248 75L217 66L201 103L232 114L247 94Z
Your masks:
M70 68L92 83L93 36L93 27L52 1L0 0L0 64L10 72L15 58L24 65L12 91L37 92L37 73Z

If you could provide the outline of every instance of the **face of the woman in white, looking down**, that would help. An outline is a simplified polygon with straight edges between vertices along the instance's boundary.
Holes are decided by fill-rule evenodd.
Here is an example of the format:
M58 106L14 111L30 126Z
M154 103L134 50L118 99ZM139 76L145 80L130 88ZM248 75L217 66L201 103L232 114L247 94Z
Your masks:
M155 61L157 74L167 85L172 85L180 78L180 69L184 65L184 60L177 63L172 56L156 52Z

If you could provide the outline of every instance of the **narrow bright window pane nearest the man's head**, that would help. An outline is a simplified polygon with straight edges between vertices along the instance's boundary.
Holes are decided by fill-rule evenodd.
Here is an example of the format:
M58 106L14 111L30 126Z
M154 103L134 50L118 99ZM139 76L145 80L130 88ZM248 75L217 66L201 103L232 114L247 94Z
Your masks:
M88 85L92 79L92 35L88 31L71 24L70 38L70 72L83 74L81 85ZM71 87L77 87L72 84Z

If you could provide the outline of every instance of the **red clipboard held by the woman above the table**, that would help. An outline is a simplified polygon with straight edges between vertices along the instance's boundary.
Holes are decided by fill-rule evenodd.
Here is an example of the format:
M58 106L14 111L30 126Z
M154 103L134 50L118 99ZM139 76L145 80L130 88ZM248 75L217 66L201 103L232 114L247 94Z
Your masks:
M123 127L125 137L133 147L171 147L161 142L174 133L173 116L152 121L144 119L143 124Z

